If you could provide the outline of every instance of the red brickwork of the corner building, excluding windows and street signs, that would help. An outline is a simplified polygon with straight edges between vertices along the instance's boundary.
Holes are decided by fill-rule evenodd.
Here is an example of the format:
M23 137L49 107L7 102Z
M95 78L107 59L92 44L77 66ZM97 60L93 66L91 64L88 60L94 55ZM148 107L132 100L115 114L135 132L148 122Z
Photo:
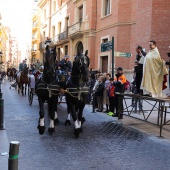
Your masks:
M116 67L122 66L131 70L134 67L137 45L141 45L148 52L150 40L157 42L161 56L168 60L170 0L112 0L111 2L111 14L102 18L102 1L86 0L89 29L93 33L96 29L96 36L87 36L92 68L98 68L101 37L107 35L110 35L110 41L112 36L115 37L115 51L132 53L129 59L116 57ZM69 1L68 6L68 13L71 14L70 25L72 25L75 17L73 1Z

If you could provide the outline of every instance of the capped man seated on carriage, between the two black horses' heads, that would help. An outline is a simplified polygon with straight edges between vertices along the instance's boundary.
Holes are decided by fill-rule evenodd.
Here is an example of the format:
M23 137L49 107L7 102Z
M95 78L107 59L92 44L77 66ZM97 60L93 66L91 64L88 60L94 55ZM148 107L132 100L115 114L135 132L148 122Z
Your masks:
M66 74L71 72L72 66L68 55L65 55L65 57L59 62L59 69L64 71Z

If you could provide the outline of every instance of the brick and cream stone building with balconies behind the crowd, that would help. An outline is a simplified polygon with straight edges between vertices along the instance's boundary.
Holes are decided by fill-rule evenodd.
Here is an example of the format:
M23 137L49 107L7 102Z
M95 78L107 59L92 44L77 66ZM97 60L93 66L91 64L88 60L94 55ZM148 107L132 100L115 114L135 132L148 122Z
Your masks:
M39 4L42 12L51 11L42 24L42 35L57 46L59 60L65 54L73 60L78 49L88 50L90 67L111 73L112 51L101 52L101 43L112 37L116 52L132 53L131 58L115 57L114 67L132 70L137 45L147 52L150 40L157 42L162 58L168 60L169 0L41 0Z

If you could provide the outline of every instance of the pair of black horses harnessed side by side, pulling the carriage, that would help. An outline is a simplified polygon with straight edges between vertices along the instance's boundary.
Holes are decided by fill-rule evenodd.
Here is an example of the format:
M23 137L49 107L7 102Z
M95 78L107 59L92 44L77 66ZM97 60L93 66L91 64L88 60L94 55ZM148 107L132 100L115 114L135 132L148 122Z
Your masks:
M53 50L47 49L45 53L45 63L43 75L36 81L35 92L39 102L39 134L45 132L44 121L44 103L48 103L48 115L50 124L49 133L55 132L55 123L57 119L57 102L58 96L63 92L66 97L67 107L74 121L74 134L79 137L82 132L83 124L83 109L86 104L89 87L86 86L88 81L88 58L82 53L78 53L73 61L71 76L67 78L65 75L59 74L54 68L54 57L56 56ZM67 83L66 83L67 82ZM32 104L34 93L29 91L29 103Z

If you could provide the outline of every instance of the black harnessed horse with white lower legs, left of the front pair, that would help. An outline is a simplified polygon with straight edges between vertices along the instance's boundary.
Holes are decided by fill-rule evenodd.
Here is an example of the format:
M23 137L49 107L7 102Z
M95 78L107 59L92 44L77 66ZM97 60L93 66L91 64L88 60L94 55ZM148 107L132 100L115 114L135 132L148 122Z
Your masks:
M39 102L39 122L38 129L39 134L43 135L45 131L44 124L44 102L48 103L48 115L50 116L50 125L48 128L49 133L55 132L55 122L57 121L56 107L58 102L58 93L60 87L58 86L58 80L55 73L54 67L54 56L56 55L55 50L49 48L46 49L44 71L42 77L36 83L36 94Z

